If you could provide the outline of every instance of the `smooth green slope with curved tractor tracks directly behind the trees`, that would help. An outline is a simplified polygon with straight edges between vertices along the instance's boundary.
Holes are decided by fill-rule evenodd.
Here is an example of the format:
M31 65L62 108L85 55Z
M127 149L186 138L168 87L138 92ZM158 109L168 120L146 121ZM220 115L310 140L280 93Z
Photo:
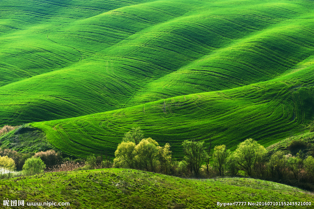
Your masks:
M144 137L170 142L176 157L181 156L181 142L190 138L208 142L212 137L214 145L234 149L252 137L269 146L288 137L290 130L300 132L300 124L313 115L312 67L306 66L305 60L292 74L231 90L31 125L44 130L53 146L80 156L113 154L133 124L143 128Z

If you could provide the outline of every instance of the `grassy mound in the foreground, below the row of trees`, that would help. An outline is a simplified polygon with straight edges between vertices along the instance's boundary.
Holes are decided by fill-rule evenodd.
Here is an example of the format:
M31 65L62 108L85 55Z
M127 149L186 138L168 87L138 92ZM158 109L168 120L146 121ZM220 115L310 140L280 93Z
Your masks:
M69 207L63 208L215 208L218 201L313 199L313 195L302 190L257 179L181 179L129 169L45 173L2 180L0 186L0 197L28 202L70 202Z

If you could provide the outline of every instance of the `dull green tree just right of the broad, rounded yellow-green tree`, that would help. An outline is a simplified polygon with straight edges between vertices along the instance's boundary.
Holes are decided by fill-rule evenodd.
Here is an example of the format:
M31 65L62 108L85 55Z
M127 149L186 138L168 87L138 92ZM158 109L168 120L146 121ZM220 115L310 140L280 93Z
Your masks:
M284 173L286 173L288 168L287 163L287 156L282 151L277 151L270 157L267 168L273 179L276 177L279 179L284 178Z

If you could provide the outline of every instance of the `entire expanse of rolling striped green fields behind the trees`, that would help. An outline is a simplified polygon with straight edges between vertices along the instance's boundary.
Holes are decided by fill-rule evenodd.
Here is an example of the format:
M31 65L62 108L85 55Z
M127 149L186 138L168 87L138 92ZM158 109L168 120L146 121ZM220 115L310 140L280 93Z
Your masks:
M113 155L134 125L269 146L314 116L310 0L2 0L0 125Z

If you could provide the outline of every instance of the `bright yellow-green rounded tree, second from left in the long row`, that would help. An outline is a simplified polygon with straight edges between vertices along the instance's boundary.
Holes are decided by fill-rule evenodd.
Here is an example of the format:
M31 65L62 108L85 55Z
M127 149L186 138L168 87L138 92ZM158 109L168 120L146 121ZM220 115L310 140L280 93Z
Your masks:
M137 146L135 146L135 159L141 168L147 171L156 172L158 161L158 143L151 139L142 139Z

